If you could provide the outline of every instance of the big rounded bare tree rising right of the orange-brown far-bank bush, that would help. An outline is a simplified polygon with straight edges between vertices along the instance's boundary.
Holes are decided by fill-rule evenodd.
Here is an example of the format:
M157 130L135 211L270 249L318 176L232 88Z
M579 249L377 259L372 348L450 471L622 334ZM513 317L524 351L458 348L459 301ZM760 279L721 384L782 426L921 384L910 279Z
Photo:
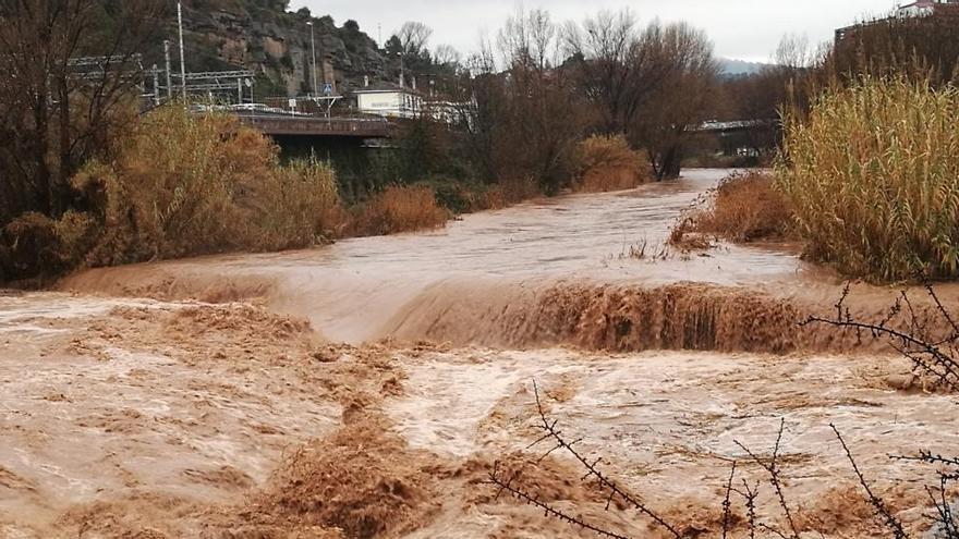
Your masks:
M706 119L716 63L705 34L684 23L638 29L629 11L600 12L565 34L595 127L650 152L659 179L679 175L683 143Z

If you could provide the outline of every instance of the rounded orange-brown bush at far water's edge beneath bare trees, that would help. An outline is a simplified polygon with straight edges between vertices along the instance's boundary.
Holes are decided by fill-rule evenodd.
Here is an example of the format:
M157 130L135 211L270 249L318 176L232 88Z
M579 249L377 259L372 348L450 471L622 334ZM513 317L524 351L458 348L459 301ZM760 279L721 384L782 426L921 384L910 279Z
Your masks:
M629 189L648 181L653 170L622 135L594 135L580 142L575 161L573 188L583 193Z

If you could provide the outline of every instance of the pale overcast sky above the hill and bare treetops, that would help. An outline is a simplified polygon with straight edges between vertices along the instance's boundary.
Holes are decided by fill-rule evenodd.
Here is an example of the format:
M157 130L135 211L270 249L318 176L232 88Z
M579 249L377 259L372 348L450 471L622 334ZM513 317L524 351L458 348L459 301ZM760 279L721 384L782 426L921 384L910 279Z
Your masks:
M494 34L514 12L515 0L293 0L293 9L306 5L314 15L332 15L338 25L354 19L374 39L377 26L388 38L404 21L420 21L434 28L432 45L449 44L462 52L476 48L482 32ZM902 3L907 3L903 0ZM607 9L629 7L641 22L688 21L704 28L726 58L763 61L780 37L805 34L816 44L831 39L833 30L867 14L886 13L895 0L525 0L523 5L545 8L557 21L579 20Z

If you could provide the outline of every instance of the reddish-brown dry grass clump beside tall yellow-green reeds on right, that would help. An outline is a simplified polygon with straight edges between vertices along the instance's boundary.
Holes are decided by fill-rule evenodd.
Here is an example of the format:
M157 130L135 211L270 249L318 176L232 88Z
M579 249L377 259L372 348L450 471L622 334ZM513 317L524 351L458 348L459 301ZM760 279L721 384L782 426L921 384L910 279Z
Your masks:
M731 242L781 240L790 234L792 210L766 172L738 172L680 218L670 243L708 247L711 237Z

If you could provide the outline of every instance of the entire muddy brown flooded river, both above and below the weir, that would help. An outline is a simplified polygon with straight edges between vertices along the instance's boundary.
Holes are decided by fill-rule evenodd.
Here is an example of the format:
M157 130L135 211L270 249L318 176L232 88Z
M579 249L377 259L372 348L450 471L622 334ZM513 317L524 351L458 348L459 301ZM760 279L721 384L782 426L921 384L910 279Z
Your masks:
M0 538L595 537L497 497L496 462L567 514L672 537L530 448L534 381L582 454L684 537L721 536L733 461L787 529L739 445L767 455L784 420L798 534L887 537L830 422L923 534L934 470L888 455L959 452L956 399L891 383L909 364L878 344L800 330L841 281L794 249L667 249L725 174L0 294ZM857 285L852 309L893 293ZM729 536L749 537L745 511L732 501Z

